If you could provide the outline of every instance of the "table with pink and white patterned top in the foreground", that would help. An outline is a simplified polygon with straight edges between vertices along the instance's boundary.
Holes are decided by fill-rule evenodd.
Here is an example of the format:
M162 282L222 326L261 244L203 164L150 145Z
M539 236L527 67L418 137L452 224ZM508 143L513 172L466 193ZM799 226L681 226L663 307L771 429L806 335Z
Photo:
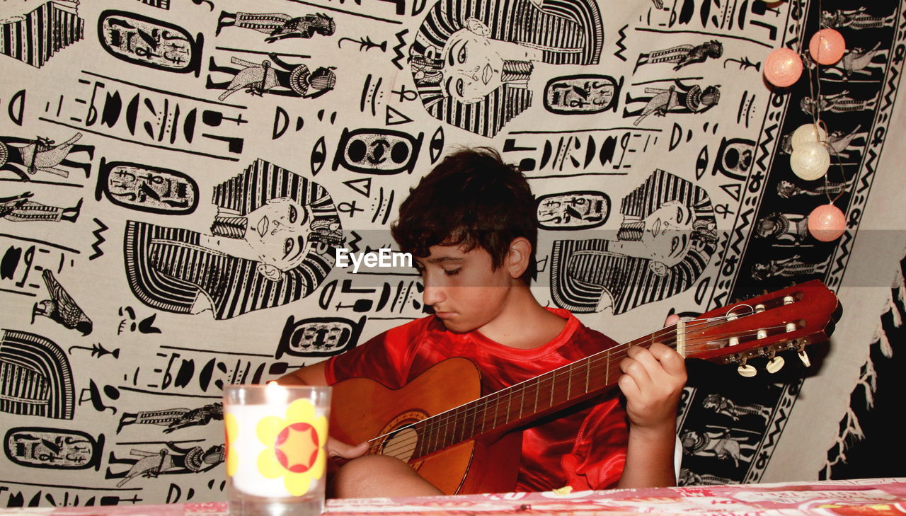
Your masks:
M906 478L329 500L330 516L902 516ZM226 502L0 509L0 516L226 516Z

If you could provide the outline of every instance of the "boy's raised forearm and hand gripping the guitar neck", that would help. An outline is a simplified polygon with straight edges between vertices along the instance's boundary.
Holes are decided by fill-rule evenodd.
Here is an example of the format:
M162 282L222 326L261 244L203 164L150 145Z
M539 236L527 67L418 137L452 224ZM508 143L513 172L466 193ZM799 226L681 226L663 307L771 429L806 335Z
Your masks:
M660 343L650 349L633 346L627 355L620 363L624 374L618 383L626 397L629 444L617 487L676 485L673 454L677 406L686 385L685 361Z

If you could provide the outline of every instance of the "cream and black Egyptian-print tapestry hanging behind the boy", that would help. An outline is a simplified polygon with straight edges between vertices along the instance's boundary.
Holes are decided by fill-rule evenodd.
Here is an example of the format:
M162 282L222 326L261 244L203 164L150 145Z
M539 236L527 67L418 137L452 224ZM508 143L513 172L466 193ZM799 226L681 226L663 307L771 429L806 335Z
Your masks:
M337 250L395 250L410 187L471 146L533 188L535 296L614 339L808 280L852 303L810 366L690 364L678 418L682 484L830 471L903 255L904 7L0 2L0 505L224 499L222 388L429 313L414 269ZM767 84L820 28L843 59Z

